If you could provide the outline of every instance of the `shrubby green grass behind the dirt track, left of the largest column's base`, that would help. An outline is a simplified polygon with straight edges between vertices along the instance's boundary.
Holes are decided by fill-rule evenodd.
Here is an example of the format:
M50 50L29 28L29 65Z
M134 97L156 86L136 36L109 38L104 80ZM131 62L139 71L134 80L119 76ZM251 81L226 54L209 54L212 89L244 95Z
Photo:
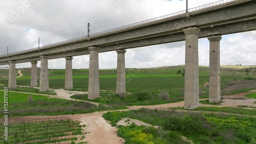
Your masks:
M89 100L88 94L72 95L70 98L106 105L158 105L183 101L184 93L183 90L177 89L169 91L137 91L130 95L118 95L111 92L101 92L101 96L94 100Z

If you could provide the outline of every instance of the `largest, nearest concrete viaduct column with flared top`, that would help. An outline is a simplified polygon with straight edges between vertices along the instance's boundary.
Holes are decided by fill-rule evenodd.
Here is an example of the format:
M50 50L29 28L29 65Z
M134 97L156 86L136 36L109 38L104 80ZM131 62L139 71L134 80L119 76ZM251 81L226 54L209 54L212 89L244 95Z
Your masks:
M198 34L200 29L183 29L185 47L185 108L199 107Z

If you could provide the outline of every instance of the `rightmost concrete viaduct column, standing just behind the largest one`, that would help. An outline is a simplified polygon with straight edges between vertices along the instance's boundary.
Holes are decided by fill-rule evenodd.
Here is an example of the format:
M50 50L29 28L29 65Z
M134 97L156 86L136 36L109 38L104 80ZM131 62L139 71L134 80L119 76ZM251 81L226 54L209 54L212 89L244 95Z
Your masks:
M210 36L209 103L221 100L220 40L221 36Z

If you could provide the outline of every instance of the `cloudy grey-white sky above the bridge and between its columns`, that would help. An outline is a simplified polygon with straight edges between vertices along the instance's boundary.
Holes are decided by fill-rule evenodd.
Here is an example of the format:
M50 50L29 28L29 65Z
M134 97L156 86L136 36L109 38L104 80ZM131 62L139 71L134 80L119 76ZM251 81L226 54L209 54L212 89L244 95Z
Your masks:
M185 9L185 0L0 0L0 55L129 25ZM216 0L189 0L189 8ZM222 36L221 65L256 65L256 31ZM65 59L49 68L65 68ZM185 41L129 49L126 67L185 64ZM99 54L99 68L116 68L116 52ZM209 41L199 39L199 65L209 65ZM8 65L3 65L4 67ZM30 63L16 67L30 67ZM40 66L40 62L37 63ZM73 59L73 68L89 68L89 55Z

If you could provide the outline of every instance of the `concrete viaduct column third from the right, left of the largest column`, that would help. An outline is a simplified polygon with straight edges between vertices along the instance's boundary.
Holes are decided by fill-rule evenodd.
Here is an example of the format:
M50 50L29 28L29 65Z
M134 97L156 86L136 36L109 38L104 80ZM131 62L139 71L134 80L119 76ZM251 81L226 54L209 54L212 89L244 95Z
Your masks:
M117 75L116 75L116 93L126 92L125 87L125 50L116 50L117 52Z

